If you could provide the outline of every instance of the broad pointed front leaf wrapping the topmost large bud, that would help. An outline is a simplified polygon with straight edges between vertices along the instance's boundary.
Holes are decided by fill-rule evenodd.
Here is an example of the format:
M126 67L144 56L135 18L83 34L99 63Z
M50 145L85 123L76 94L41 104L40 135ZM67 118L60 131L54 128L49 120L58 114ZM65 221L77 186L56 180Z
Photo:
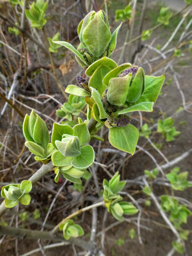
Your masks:
M83 42L95 57L100 57L110 40L110 29L97 12L83 31Z

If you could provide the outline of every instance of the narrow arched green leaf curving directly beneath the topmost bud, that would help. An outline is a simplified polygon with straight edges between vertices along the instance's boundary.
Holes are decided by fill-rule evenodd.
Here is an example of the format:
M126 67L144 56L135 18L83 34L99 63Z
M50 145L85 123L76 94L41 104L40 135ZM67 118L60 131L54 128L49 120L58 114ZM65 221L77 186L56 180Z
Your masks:
M92 65L90 65L86 71L85 71L85 74L87 76L92 76L93 73L95 72L95 70L99 67L99 66L107 66L108 68L110 69L113 69L113 68L116 68L117 67L117 64L114 60L111 60L107 57L103 57L101 58L100 60L96 60Z

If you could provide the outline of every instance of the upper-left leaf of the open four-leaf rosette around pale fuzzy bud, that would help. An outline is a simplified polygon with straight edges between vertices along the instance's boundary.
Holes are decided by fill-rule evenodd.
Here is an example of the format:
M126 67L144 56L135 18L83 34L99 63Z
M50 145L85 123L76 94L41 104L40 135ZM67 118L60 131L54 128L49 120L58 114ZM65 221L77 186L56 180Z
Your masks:
M53 123L53 131L52 131L52 138L51 138L53 147L58 149L57 146L55 145L55 140L62 140L63 134L73 135L73 132L74 132L73 128L71 128L71 126L69 126L68 124Z

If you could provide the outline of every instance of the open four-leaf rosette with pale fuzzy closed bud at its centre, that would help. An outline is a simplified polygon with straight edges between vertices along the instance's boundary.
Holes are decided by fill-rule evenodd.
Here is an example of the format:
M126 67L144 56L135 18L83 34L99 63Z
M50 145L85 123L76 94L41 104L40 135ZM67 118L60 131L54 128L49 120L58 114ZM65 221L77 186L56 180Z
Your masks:
M67 166L83 170L94 162L94 150L90 145L90 134L85 123L76 124L73 128L67 124L53 124L52 144L57 149L52 154L55 166Z

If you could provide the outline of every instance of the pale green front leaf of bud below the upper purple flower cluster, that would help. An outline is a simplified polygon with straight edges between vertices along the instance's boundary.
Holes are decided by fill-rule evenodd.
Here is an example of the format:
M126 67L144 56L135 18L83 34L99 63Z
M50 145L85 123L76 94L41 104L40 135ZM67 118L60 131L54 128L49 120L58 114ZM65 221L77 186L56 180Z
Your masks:
M132 75L113 77L109 80L107 99L110 104L121 106L125 103Z

